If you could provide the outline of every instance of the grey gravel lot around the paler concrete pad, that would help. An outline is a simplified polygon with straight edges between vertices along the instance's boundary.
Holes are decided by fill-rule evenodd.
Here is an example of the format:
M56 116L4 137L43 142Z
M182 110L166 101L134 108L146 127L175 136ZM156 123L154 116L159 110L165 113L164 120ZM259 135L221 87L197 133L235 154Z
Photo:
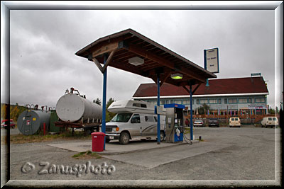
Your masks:
M163 154L165 149L155 149L145 152L135 152L129 156L151 156L162 153L168 156L180 151L189 151L195 147L202 151L207 144L228 144L228 147L209 151L197 156L190 156L169 164L155 168L146 168L135 164L127 164L102 157L101 159L74 159L74 151L50 147L47 144L63 143L38 142L27 144L11 144L11 179L12 180L275 180L275 144L279 141L280 129L241 127L241 128L209 128L198 127L194 131L195 137L202 136L204 142L190 145L181 145L168 149L168 154ZM72 141L75 142L75 141ZM80 141L82 142L82 140ZM1 148L2 149L2 148ZM124 154L126 155L126 154ZM90 161L92 165L115 166L116 170L109 169L110 174L82 173L44 173L38 174L43 166L40 162L47 161L55 165L74 166L83 165ZM35 165L35 169L23 173L21 168L26 162ZM49 168L50 168L49 166Z

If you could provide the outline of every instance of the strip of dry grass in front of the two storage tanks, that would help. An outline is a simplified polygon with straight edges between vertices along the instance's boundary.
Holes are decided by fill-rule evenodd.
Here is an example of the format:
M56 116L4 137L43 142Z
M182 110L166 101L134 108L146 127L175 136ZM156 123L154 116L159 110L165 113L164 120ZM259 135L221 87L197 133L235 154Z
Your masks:
M10 135L11 144L23 144L31 142L46 142L60 139L92 139L91 134L84 136L84 133L75 132L72 136L72 132L65 132L61 134L32 134L32 135L23 135L23 134L14 134Z

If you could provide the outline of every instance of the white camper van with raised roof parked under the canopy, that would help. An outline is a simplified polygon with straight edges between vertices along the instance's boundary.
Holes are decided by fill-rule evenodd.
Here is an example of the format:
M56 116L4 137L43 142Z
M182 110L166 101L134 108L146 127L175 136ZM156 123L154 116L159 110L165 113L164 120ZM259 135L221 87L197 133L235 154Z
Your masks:
M120 144L128 144L130 139L156 139L157 115L155 106L144 101L116 101L111 103L109 112L116 113L106 123L106 142L119 139ZM165 108L160 114L160 141L165 138Z

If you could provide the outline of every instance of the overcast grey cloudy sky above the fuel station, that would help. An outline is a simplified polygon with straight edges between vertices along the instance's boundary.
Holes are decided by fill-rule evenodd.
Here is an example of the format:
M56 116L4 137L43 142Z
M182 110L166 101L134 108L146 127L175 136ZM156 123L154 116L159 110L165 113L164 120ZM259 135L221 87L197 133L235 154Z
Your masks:
M219 47L218 79L261 73L275 101L273 10L11 10L11 104L55 106L70 87L102 99L102 74L75 55L89 43L131 28L204 67L203 50ZM107 99L129 99L153 80L108 68ZM277 104L278 105L278 104Z

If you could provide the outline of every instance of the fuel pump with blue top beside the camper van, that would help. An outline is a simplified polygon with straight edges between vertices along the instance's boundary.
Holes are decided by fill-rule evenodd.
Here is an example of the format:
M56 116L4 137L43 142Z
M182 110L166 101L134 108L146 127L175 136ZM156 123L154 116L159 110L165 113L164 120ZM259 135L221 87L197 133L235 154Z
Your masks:
M185 105L181 104L165 104L166 120L165 120L165 142L183 141L184 120L183 109Z

